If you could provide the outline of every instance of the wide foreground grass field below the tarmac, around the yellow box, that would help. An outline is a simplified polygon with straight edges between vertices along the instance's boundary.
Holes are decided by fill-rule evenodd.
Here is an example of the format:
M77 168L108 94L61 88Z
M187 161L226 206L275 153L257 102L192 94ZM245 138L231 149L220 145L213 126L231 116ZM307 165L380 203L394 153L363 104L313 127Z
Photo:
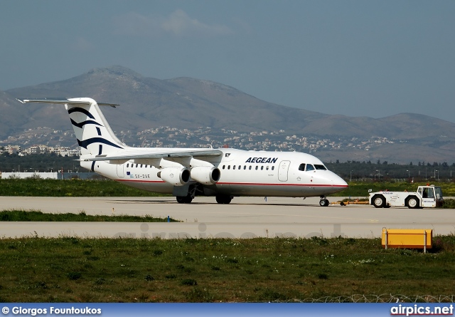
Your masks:
M313 301L454 294L455 237L430 253L379 239L0 239L3 302Z

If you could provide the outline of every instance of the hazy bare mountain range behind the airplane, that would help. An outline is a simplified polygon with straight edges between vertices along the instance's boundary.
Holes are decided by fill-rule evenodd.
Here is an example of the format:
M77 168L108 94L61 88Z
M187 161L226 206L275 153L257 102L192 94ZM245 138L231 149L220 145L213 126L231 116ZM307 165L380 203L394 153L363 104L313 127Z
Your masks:
M114 130L211 127L239 132L285 130L291 135L321 138L387 137L395 142L369 151L341 148L321 150L316 155L326 161L455 162L455 123L415 113L379 119L356 117L355 113L328 115L268 103L210 80L160 80L122 66L95 68L67 80L0 91L0 140L38 127L70 130L68 114L61 106L22 105L15 99L58 96L119 103L117 110L103 111Z

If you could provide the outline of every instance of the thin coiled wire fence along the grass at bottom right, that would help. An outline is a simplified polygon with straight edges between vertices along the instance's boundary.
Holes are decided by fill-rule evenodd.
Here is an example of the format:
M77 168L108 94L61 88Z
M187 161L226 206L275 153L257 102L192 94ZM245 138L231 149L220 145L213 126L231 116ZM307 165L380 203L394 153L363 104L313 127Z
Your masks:
M273 301L274 303L454 303L455 295L363 295L350 296L323 296L320 298L306 298L303 301Z

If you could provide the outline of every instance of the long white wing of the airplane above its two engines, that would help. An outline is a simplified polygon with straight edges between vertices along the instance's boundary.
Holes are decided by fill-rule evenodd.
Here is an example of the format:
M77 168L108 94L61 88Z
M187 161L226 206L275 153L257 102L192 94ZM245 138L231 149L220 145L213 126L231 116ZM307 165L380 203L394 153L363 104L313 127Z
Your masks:
M166 157L214 157L223 155L220 150L214 149L159 149L150 151L127 151L123 153L112 153L107 155L96 155L95 157L84 158L84 161L107 161L107 160L146 160Z

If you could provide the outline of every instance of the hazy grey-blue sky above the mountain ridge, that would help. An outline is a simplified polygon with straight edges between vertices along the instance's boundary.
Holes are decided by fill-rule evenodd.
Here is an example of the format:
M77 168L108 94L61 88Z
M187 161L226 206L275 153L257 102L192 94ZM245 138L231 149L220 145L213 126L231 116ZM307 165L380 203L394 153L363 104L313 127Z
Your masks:
M451 0L0 0L0 90L119 65L330 115L455 123L454 16Z

